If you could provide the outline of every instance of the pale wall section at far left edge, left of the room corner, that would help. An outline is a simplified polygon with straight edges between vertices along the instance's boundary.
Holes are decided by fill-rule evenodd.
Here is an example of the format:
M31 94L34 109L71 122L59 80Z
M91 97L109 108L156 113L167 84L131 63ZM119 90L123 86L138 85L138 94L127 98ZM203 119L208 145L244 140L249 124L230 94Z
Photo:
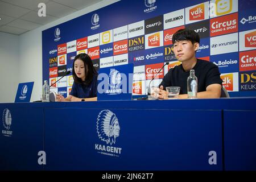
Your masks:
M14 102L19 82L19 36L0 32L0 103Z

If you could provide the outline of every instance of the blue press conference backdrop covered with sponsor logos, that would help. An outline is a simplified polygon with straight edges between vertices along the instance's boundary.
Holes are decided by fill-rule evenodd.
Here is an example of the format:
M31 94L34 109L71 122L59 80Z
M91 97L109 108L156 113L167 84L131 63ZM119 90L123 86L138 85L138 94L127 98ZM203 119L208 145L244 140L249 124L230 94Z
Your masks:
M43 80L55 82L72 71L75 56L88 53L97 71L134 64L133 95L179 65L172 35L190 28L200 35L196 56L218 65L231 97L256 95L256 1L122 0L42 32ZM72 73L51 90L68 96Z

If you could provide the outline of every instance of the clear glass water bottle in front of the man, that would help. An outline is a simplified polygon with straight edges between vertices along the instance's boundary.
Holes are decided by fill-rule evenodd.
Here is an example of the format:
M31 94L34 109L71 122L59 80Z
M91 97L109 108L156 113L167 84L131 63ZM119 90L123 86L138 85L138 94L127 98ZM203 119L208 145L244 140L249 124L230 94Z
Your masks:
M197 98L197 77L195 76L195 70L190 70L188 77L188 98Z

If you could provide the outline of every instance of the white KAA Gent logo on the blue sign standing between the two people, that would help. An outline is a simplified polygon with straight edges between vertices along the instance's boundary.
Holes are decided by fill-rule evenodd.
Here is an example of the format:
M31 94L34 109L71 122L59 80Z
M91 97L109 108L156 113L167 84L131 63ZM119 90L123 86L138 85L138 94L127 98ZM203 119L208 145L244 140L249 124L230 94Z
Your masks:
M121 86L121 73L117 71L116 69L110 69L109 73L109 88L106 90L107 94L121 94L122 89L120 88Z

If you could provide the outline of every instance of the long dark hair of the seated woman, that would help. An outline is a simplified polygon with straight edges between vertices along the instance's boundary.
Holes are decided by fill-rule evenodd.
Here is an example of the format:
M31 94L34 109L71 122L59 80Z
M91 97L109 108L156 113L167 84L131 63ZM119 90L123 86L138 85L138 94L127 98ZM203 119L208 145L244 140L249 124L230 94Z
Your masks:
M84 62L84 70L85 70L85 81L82 81L81 78L76 76L75 73L75 61L77 59L80 59ZM72 75L74 78L74 81L78 84L85 84L89 85L93 80L93 75L98 75L96 69L93 67L92 59L90 59L90 56L88 56L86 53L80 53L77 55L73 61L73 68L72 68Z

